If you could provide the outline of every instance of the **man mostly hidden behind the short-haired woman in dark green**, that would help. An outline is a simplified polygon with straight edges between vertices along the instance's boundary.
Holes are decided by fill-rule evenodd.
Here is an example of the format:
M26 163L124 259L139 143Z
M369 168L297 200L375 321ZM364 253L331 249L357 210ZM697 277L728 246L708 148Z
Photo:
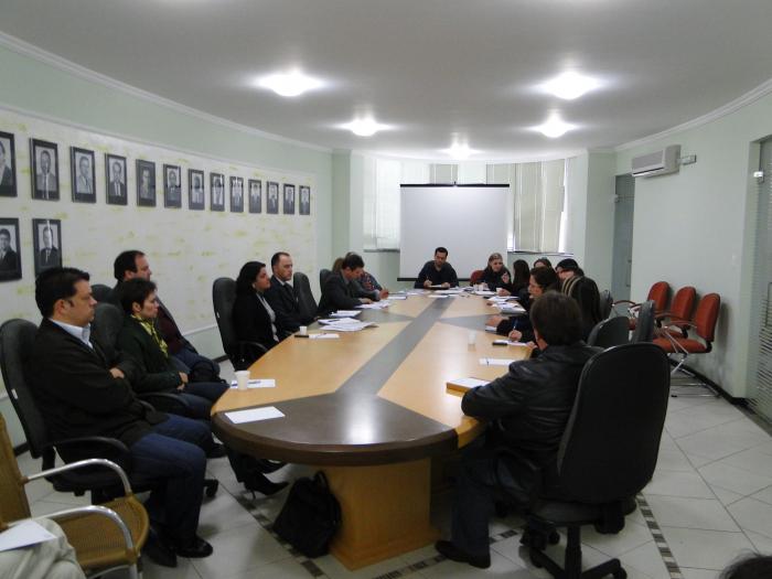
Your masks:
M150 281L152 271L148 257L138 249L122 251L112 264L112 275L117 283L109 300L122 310L120 301L124 282L139 278ZM172 313L158 299L158 330L169 346L169 355L180 372L189 375L192 382L216 382L219 379L219 365L213 360L202 356L180 332Z

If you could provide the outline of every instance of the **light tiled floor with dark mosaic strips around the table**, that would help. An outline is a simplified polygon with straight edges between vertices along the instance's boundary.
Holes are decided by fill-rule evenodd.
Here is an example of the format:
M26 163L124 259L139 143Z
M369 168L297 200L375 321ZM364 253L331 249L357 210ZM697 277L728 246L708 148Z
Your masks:
M592 566L609 557L620 557L630 579L708 579L717 577L736 557L752 550L772 553L772 438L742 410L722 399L671 398L666 430L654 479L643 491L645 502L661 528L680 575L665 567L661 550L640 511L628 517L619 535L600 535L582 529L585 562ZM34 472L39 463L20 458L22 472ZM176 569L146 564L148 579L310 579L311 571L282 547L246 508L250 501L225 459L210 460L210 474L222 485L217 496L206 500L200 533L214 546L207 559L181 559ZM272 474L275 480L292 480L309 473L302 467L288 467ZM45 514L82 498L53 492L44 481L28 487L34 514ZM272 521L286 497L258 498L251 507L259 518ZM435 523L447 536L450 496L437 496L432 504ZM239 502L240 501L240 502ZM246 502L246 503L245 503ZM491 524L492 566L473 569L448 560L437 560L431 546L387 561L347 571L333 557L313 562L329 579L388 576L415 578L549 577L535 569L519 548L519 533L503 538L508 529L519 530L516 516ZM550 547L562 550L565 542ZM423 561L416 569L414 564ZM394 571L399 571L395 573ZM112 578L124 577L121 572Z

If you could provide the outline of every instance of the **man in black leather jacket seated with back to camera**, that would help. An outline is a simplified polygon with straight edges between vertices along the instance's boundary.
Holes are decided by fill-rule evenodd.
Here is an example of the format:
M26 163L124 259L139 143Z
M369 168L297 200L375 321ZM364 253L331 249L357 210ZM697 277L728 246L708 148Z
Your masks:
M557 292L530 309L542 354L513 362L508 372L469 390L461 408L489 422L463 453L453 502L451 540L439 553L474 567L491 565L487 522L494 502L526 507L557 473L557 453L585 364L600 349L581 341L576 301Z

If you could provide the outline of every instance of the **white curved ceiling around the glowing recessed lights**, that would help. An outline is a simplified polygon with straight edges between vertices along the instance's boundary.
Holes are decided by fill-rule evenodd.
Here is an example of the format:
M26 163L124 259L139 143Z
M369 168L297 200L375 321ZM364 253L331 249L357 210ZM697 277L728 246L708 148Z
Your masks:
M523 160L688 121L772 78L770 23L772 0L0 0L0 31L122 83L282 137L422 159L447 158L453 133L473 158ZM328 86L293 99L250 86L291 66ZM569 68L605 86L573 101L533 89ZM580 128L529 130L551 110ZM357 111L397 128L335 128Z

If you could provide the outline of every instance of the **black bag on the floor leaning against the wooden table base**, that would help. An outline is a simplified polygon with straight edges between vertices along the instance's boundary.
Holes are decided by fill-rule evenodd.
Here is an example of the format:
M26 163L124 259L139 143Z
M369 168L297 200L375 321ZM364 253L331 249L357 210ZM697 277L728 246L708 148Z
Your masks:
M341 526L341 505L322 471L298 479L274 523L274 530L307 557L326 555Z

